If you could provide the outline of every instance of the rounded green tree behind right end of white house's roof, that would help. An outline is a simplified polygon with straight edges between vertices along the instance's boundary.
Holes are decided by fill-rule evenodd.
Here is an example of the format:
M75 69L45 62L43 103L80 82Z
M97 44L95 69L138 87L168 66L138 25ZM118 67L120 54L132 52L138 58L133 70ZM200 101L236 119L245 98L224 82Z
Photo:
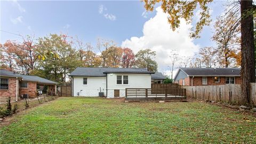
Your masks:
M153 60L156 56L155 51L151 51L149 49L140 50L135 55L135 67L138 68L147 68L148 71L157 71L157 63Z

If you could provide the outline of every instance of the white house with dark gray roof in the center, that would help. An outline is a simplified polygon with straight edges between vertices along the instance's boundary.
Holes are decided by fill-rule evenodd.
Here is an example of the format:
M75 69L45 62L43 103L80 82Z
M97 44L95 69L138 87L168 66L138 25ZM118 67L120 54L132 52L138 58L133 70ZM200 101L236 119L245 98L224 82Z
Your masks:
M152 82L162 82L162 73L142 68L76 68L70 75L72 95L107 98L125 97L125 88L150 89ZM157 80L157 81L156 81ZM102 96L103 96L102 95Z

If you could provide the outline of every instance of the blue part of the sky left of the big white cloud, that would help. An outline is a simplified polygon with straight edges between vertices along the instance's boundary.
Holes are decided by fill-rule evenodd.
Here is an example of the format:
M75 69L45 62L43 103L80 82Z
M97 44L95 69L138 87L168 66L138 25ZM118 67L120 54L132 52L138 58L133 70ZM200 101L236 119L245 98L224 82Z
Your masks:
M45 36L50 33L77 35L85 42L94 43L98 37L113 39L117 44L131 36L142 34L145 9L139 1L18 1L25 12L12 1L1 1L1 30L15 34ZM106 7L102 14L99 7ZM104 17L115 15L115 20ZM12 19L22 17L22 22ZM65 27L66 26L66 27ZM29 28L30 27L30 28ZM31 29L31 30L30 30ZM1 32L1 43L17 36Z

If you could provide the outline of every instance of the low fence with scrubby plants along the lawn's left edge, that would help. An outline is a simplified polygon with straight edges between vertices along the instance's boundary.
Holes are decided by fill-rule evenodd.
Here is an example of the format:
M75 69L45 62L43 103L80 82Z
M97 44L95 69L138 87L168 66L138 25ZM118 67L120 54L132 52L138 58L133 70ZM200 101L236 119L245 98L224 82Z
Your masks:
M58 97L59 95L36 95L36 98L25 98L18 102L11 102L11 97L9 97L6 99L5 103L1 103L0 105L0 118L3 118L5 116L11 116L19 111L22 111L29 107L35 107L47 101L57 99Z

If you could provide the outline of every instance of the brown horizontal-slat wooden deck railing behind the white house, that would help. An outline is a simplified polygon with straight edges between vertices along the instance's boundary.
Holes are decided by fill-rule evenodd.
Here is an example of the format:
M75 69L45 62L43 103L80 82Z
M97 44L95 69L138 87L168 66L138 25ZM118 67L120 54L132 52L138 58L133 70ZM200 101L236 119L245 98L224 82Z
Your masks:
M186 89L137 89L126 88L125 97L186 97Z

